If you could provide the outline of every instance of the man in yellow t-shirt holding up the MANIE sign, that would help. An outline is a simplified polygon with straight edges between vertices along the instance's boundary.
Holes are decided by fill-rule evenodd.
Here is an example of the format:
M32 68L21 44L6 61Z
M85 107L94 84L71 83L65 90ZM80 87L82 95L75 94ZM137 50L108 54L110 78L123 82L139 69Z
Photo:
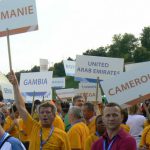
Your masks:
M40 123L35 121L25 108L13 71L9 73L9 81L14 87L16 107L24 121L24 131L30 137L29 150L70 150L67 134L52 125L56 116L56 107L49 102L41 104L38 110Z

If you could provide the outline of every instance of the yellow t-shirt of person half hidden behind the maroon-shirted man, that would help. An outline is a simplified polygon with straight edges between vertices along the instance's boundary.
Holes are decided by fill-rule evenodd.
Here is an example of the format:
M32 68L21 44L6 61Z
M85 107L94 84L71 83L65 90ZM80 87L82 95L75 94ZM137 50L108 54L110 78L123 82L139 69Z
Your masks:
M99 139L95 134L91 134L85 141L85 150L91 150L92 144Z

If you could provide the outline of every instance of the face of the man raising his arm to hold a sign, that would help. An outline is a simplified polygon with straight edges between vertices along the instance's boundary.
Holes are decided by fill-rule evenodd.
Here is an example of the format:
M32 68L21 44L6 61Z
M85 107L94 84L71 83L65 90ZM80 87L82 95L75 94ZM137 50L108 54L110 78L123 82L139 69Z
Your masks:
M43 127L51 127L55 115L52 113L51 107L41 107L39 110L39 119Z

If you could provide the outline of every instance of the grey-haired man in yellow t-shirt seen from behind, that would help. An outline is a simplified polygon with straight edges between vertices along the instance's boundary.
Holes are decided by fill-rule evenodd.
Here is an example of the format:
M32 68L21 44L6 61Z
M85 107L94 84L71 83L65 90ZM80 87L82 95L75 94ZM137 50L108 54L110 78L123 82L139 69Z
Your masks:
M68 137L72 150L84 150L85 140L89 136L89 129L82 122L82 110L78 106L73 106L69 109L69 122L72 127L68 131Z

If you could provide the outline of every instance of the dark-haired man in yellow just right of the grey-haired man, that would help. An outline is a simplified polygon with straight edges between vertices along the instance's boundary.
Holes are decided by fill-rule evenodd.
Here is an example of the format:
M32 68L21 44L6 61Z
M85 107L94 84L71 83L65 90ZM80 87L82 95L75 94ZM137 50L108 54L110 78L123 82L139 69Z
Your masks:
M90 102L86 102L82 106L82 111L83 111L83 116L86 121L86 124L89 128L90 134L94 134L96 131L95 127L95 110L94 110L94 105Z

